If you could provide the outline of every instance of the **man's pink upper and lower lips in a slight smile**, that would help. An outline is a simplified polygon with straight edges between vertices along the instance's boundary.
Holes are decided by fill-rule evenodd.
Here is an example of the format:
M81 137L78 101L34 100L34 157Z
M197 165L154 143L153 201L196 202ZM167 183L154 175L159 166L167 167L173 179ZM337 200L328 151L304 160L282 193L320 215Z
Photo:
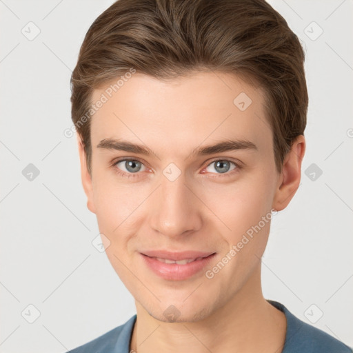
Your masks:
M157 276L169 281L183 281L201 272L216 255L215 252L170 252L164 250L151 250L140 252L143 261ZM197 259L190 263L179 265L177 263L163 263L156 258L179 261L183 259Z

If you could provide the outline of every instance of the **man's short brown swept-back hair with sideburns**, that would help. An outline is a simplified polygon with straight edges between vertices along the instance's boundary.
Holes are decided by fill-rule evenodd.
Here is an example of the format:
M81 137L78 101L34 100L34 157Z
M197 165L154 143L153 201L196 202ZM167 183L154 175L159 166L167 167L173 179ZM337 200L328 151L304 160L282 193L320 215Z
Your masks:
M217 70L261 86L281 172L305 130L304 57L296 34L265 0L116 1L90 26L71 77L72 121L89 172L92 91L131 68L158 79Z

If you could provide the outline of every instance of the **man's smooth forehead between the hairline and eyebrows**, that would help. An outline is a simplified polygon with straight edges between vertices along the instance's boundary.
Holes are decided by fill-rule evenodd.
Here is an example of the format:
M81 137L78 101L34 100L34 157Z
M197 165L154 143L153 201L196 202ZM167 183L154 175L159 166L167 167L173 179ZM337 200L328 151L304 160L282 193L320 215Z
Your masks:
M263 92L234 74L194 72L161 81L135 73L117 81L92 94L92 104L103 102L91 118L93 147L107 138L144 143L168 154L220 139L272 145Z

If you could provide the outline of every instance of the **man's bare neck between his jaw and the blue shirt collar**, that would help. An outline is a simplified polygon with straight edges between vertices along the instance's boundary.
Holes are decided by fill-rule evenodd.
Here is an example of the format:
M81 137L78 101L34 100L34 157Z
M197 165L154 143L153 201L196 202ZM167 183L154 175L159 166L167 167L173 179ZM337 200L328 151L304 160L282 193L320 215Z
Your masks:
M261 264L228 303L201 321L165 323L135 302L130 352L271 352L285 343L285 315L263 298ZM265 349L264 349L265 347Z

